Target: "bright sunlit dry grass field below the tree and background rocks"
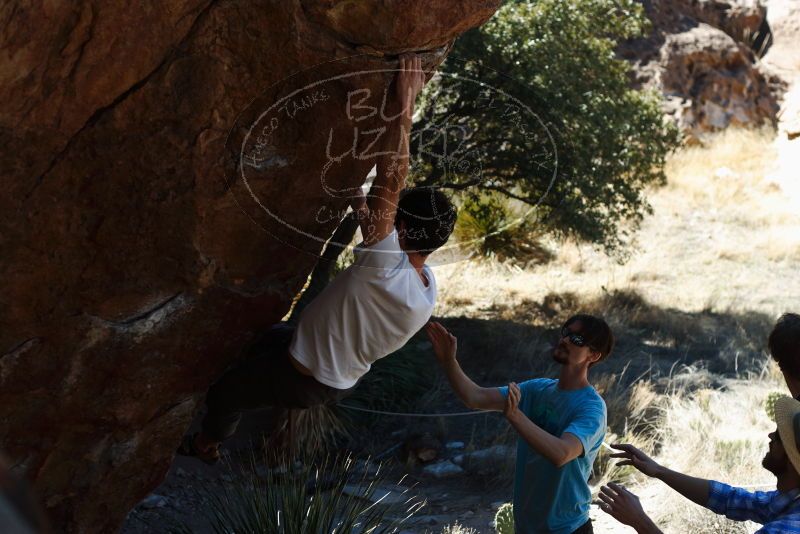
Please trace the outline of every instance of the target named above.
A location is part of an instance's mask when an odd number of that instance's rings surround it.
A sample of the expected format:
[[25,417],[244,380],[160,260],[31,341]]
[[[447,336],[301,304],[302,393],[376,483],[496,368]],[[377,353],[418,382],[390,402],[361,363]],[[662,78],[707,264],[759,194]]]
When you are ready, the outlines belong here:
[[800,198],[791,195],[800,193],[776,174],[775,146],[769,131],[728,130],[707,147],[676,153],[624,265],[574,243],[549,243],[556,259],[525,270],[478,260],[440,265],[436,313],[483,317],[548,293],[623,290],[686,312],[777,316],[800,301],[800,284],[791,283],[800,269]]

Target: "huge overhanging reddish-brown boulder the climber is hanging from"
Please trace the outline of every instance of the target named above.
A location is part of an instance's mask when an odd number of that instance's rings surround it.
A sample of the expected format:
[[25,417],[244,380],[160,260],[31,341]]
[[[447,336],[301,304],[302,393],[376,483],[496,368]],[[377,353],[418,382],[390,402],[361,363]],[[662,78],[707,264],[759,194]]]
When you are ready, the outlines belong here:
[[114,531],[285,314],[371,166],[348,94],[498,3],[0,7],[0,449],[57,530]]

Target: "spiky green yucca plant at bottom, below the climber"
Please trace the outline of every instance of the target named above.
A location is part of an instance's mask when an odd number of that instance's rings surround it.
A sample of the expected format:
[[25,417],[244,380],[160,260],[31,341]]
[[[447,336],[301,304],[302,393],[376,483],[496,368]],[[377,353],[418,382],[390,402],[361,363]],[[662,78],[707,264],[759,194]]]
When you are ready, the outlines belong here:
[[[269,454],[269,453],[268,453]],[[276,465],[274,458],[267,458]],[[326,455],[294,462],[284,469],[260,469],[251,456],[242,477],[222,488],[200,489],[208,499],[205,515],[215,534],[339,534],[397,532],[424,505],[408,495],[401,504],[383,503],[376,494],[386,476],[369,474],[351,456]],[[402,481],[402,480],[401,480]],[[405,490],[407,492],[408,490]],[[405,494],[404,492],[404,494]],[[405,496],[405,495],[404,495]],[[176,534],[191,530],[183,525]]]

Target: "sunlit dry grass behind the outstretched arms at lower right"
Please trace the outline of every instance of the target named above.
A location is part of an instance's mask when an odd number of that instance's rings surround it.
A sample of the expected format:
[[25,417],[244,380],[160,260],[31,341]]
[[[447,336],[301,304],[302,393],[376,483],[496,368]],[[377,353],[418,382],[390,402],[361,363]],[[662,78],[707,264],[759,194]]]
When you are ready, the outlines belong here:
[[[758,379],[726,380],[722,388],[702,386],[695,370],[684,370],[661,384],[665,394],[656,394],[649,381],[637,382],[627,402],[626,432],[607,436],[632,443],[663,465],[694,476],[719,480],[749,489],[769,490],[775,478],[761,467],[767,449],[767,434],[775,429],[766,412],[766,399],[772,392],[786,393],[774,364],[769,364]],[[609,410],[618,402],[612,388],[604,394]],[[630,423],[633,423],[632,425]],[[667,534],[753,532],[754,523],[737,523],[697,506],[665,484],[647,479],[631,468],[613,465],[608,451],[601,451],[595,464],[595,491],[610,480],[625,483],[639,495],[642,505]],[[599,472],[598,472],[599,471]],[[592,516],[598,531],[629,533],[598,509]]]

